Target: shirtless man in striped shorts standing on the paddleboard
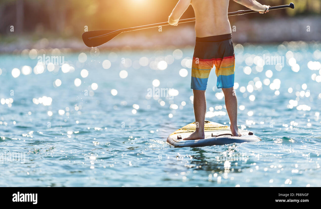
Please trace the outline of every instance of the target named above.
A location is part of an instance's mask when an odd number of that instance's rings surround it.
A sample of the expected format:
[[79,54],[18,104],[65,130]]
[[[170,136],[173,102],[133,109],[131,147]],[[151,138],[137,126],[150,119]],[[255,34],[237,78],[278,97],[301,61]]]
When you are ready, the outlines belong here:
[[[234,0],[252,10],[267,13],[270,6],[255,0]],[[192,64],[191,88],[194,94],[196,131],[184,140],[203,139],[206,113],[205,90],[211,69],[215,65],[217,88],[222,88],[226,110],[233,136],[241,136],[237,126],[238,102],[234,93],[235,55],[227,16],[229,0],[179,0],[169,16],[170,25],[177,25],[179,18],[192,5],[195,12],[196,44]]]

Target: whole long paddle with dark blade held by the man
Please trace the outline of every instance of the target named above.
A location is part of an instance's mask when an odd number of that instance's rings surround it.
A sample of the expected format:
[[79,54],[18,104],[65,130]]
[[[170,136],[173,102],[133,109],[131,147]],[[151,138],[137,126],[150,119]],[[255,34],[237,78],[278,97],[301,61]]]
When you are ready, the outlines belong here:
[[[273,7],[270,7],[269,10],[283,9],[283,8],[294,9],[294,4],[290,3],[289,5],[273,6]],[[258,11],[239,10],[236,12],[228,13],[228,16],[241,15],[241,14],[247,14],[247,13],[255,13],[255,12],[258,12]],[[193,22],[193,21],[195,21],[195,18],[183,19],[183,20],[178,21],[178,23]],[[156,24],[151,24],[151,25],[143,25],[143,26],[137,26],[137,27],[132,27],[132,28],[118,29],[118,30],[92,30],[92,31],[84,32],[82,34],[82,40],[86,46],[96,47],[96,46],[100,46],[104,43],[107,43],[108,41],[115,38],[117,35],[119,35],[122,32],[141,30],[141,29],[147,29],[147,28],[154,28],[154,27],[166,26],[166,25],[169,25],[168,22],[161,22],[161,23],[156,23]]]

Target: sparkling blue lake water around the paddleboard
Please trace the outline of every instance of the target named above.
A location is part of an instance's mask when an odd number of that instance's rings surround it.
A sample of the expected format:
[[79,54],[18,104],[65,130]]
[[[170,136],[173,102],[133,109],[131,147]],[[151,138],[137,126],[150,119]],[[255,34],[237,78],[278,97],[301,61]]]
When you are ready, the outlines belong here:
[[[0,186],[320,187],[320,46],[235,46],[239,129],[262,141],[196,148],[166,143],[194,121],[191,46],[1,54]],[[206,97],[228,125],[214,70]]]

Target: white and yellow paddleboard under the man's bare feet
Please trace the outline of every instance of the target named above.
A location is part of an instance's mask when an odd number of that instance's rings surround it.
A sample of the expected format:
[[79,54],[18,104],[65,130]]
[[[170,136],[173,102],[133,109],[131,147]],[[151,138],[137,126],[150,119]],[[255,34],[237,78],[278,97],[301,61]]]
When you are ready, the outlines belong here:
[[167,138],[167,142],[174,147],[197,147],[261,141],[253,132],[247,130],[239,130],[240,134],[242,134],[240,137],[232,136],[230,127],[211,121],[205,121],[204,139],[183,140],[183,138],[187,138],[191,135],[195,129],[195,122],[187,124],[170,134]]

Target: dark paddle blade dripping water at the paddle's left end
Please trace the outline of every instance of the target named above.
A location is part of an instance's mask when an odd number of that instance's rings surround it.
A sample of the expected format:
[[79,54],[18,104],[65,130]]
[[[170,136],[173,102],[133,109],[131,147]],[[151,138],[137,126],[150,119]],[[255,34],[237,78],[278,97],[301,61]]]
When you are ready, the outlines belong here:
[[88,47],[100,46],[119,35],[119,30],[92,30],[82,34],[82,40]]

